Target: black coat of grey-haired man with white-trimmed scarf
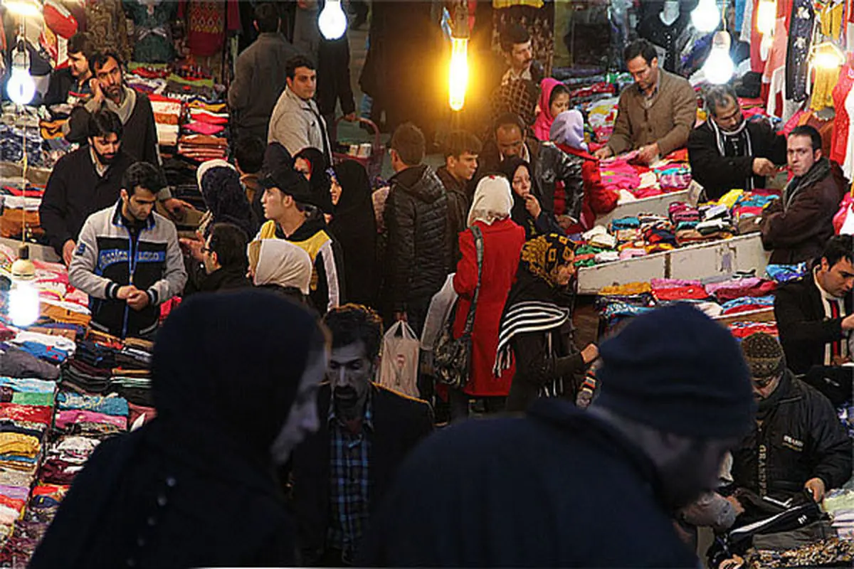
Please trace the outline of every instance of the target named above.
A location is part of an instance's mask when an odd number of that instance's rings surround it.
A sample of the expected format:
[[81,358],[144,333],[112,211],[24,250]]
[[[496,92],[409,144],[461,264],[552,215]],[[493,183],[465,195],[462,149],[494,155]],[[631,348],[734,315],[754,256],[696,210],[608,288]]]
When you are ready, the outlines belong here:
[[[710,119],[711,120],[711,119]],[[688,136],[688,161],[691,175],[705,189],[710,200],[718,200],[730,189],[746,189],[753,178],[753,188],[764,188],[765,177],[753,174],[753,160],[767,158],[777,165],[786,164],[786,136],[777,135],[764,120],[745,125],[750,136],[750,156],[722,156],[717,148],[717,135],[709,121],[699,125]]]

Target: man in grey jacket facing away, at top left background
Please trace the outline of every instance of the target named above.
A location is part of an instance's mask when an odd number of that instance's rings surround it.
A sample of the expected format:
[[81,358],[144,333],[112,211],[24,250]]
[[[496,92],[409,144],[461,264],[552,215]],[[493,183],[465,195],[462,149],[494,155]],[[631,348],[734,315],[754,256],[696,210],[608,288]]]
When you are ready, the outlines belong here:
[[281,19],[274,3],[255,6],[258,38],[237,56],[234,80],[228,89],[232,129],[237,136],[266,140],[272,109],[285,86],[285,62],[299,51],[279,31]]

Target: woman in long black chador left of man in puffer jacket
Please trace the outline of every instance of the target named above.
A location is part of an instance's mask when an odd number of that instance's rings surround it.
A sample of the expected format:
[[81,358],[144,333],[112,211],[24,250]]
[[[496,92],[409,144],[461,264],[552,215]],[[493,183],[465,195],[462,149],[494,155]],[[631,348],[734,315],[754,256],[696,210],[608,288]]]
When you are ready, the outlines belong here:
[[335,210],[329,227],[344,251],[348,300],[376,306],[377,220],[365,168],[354,160],[336,165],[331,197]]

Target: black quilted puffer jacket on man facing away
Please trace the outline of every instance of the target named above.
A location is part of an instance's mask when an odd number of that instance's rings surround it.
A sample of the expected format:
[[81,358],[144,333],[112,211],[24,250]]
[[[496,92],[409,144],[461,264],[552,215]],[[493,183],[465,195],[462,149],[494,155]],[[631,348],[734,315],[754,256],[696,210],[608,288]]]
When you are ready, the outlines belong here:
[[407,168],[389,183],[383,299],[391,311],[402,312],[410,302],[429,300],[447,277],[447,195],[427,165]]

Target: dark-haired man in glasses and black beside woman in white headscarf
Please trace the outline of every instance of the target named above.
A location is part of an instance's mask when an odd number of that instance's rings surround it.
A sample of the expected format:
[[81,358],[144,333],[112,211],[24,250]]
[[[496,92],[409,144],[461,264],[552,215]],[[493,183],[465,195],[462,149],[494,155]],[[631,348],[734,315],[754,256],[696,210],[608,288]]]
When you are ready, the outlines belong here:
[[251,286],[246,278],[246,231],[235,224],[219,222],[211,224],[207,233],[205,241],[198,241],[201,247],[194,247],[187,258],[184,297]]

